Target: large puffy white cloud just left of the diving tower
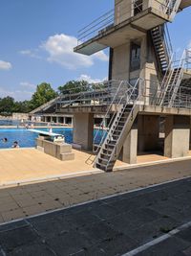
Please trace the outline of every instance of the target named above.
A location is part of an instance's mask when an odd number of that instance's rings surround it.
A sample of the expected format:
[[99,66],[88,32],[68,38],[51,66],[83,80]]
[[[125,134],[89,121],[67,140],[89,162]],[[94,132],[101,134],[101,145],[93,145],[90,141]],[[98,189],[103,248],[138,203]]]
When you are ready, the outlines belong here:
[[95,59],[106,61],[107,55],[101,51],[93,56],[84,56],[74,53],[77,39],[71,35],[53,35],[41,45],[48,54],[48,61],[55,62],[68,69],[90,67]]

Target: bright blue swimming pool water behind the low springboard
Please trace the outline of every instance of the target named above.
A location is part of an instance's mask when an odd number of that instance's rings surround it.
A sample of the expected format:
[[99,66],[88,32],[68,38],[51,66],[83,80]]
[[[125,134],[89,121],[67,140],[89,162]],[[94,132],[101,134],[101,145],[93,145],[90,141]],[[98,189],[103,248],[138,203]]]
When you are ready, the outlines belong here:
[[[38,128],[40,130],[48,131],[48,128]],[[73,128],[53,128],[54,133],[63,134],[66,143],[73,143]],[[96,130],[95,130],[96,132]],[[96,136],[96,143],[101,139],[102,132],[100,131]],[[35,147],[35,139],[38,134],[26,128],[0,128],[0,149],[9,149],[14,141],[18,141],[20,148]],[[8,142],[3,142],[3,138],[8,138]]]

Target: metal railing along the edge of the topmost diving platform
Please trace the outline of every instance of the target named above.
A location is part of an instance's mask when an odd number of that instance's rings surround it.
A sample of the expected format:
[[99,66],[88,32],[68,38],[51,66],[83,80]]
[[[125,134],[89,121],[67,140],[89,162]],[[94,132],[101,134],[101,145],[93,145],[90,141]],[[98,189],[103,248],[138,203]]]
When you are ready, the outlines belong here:
[[101,35],[103,32],[109,31],[114,26],[149,8],[157,10],[162,15],[167,14],[169,16],[173,11],[171,2],[174,2],[174,0],[142,0],[142,2],[138,0],[128,0],[126,1],[125,6],[124,2],[119,2],[115,6],[115,9],[106,12],[78,31],[77,45],[88,41],[96,35]]

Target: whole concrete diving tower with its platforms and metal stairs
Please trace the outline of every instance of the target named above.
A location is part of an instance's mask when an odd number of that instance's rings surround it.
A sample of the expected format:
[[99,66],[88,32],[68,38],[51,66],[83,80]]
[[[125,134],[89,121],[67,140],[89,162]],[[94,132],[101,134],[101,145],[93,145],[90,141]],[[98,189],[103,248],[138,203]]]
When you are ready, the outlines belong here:
[[[76,111],[75,104],[80,102],[78,113],[74,113],[74,139],[83,137],[89,149],[96,146],[97,168],[112,171],[117,158],[136,163],[138,151],[159,149],[159,133],[163,134],[160,148],[165,156],[187,155],[191,51],[185,50],[180,59],[175,59],[167,23],[189,6],[191,0],[116,0],[113,11],[79,32],[74,52],[92,55],[110,48],[108,86],[103,87],[104,96],[96,92],[90,96],[90,86],[89,94],[82,92],[71,104],[61,101],[60,111]],[[99,105],[105,107],[106,115],[113,113],[98,145],[93,126],[88,125],[93,124],[92,113],[87,110],[87,103],[92,105],[92,101],[93,109]],[[98,130],[101,128],[102,124]]]

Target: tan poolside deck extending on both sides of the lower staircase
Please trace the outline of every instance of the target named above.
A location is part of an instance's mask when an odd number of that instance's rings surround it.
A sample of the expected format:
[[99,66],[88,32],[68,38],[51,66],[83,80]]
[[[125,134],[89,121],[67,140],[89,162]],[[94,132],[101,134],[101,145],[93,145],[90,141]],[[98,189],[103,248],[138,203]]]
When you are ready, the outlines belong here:
[[[53,156],[32,148],[1,150],[0,188],[17,186],[18,184],[29,184],[36,181],[102,173],[102,171],[93,168],[92,160],[95,158],[94,155],[87,161],[91,155],[90,152],[73,151],[74,160],[62,162]],[[138,155],[137,165],[132,166],[117,161],[115,171],[138,167],[138,165],[150,165],[162,160],[168,159],[157,153],[142,153]]]

